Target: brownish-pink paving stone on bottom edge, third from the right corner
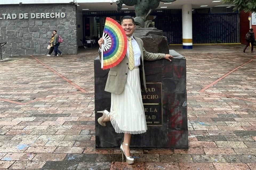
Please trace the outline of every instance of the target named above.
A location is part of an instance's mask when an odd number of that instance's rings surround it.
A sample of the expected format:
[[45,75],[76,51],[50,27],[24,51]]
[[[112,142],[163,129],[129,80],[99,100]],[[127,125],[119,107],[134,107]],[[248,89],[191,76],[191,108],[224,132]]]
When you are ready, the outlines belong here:
[[179,163],[181,170],[215,170],[212,163]]

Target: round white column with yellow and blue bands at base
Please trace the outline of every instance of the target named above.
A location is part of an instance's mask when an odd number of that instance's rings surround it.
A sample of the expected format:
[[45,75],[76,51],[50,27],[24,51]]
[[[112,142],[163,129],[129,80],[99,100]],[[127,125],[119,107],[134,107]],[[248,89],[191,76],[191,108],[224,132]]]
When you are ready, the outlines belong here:
[[182,44],[183,49],[192,49],[192,5],[182,5]]

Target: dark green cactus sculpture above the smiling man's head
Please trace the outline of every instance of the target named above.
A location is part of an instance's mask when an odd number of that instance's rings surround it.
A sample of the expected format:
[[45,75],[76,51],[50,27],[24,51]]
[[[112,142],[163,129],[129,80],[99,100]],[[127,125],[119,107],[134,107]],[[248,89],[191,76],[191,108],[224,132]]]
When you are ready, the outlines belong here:
[[151,21],[147,20],[151,10],[156,9],[160,2],[170,3],[174,1],[176,0],[119,0],[116,1],[116,4],[118,12],[122,9],[123,4],[134,6],[136,14],[136,18],[134,18],[135,24],[141,28],[151,28],[153,24]]

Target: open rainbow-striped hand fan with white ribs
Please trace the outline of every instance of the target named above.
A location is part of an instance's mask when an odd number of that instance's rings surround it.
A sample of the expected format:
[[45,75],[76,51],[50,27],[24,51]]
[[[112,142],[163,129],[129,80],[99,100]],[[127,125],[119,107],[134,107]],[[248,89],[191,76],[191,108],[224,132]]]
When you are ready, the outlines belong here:
[[127,52],[127,37],[121,25],[107,18],[103,31],[104,44],[101,50],[101,68],[110,69],[118,65]]

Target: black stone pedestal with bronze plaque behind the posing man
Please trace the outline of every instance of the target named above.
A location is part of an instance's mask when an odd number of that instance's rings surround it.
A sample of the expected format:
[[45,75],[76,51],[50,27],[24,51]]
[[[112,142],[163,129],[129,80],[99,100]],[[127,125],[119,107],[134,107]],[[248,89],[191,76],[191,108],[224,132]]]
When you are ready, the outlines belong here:
[[[172,61],[144,61],[147,93],[142,91],[147,132],[132,135],[133,148],[188,148],[186,59],[174,50]],[[104,91],[109,70],[102,70],[99,57],[94,60],[96,148],[116,148],[123,134],[115,133],[111,122],[103,127],[97,111],[110,111],[111,94]]]

